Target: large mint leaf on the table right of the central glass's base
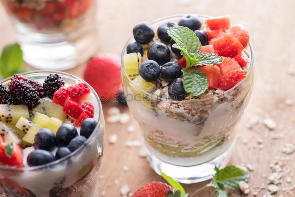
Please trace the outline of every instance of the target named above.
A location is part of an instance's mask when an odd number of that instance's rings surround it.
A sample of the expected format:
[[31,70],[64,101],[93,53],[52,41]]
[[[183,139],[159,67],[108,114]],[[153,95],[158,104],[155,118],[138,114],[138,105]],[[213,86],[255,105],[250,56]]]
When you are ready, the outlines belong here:
[[216,174],[213,176],[214,182],[222,184],[232,190],[235,190],[239,186],[241,180],[247,182],[250,177],[248,173],[235,166],[227,166],[221,170],[215,167],[215,170]]

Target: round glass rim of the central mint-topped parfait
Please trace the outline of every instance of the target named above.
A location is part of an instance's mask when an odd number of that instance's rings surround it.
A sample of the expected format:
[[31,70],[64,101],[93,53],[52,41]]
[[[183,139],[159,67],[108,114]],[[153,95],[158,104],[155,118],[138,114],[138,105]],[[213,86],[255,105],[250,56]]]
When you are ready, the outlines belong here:
[[[172,19],[172,18],[177,18],[177,17],[182,17],[186,14],[176,14],[176,15],[170,15],[170,16],[166,16],[166,17],[162,17],[162,18],[159,18],[159,19],[156,19],[156,20],[153,20],[152,22],[150,22],[150,25],[153,26],[153,24],[157,23],[157,22],[161,22],[163,20],[168,20],[168,19]],[[198,15],[199,17],[202,17],[202,18],[211,18],[211,16],[209,15],[204,15],[204,14],[196,14]],[[124,48],[123,48],[123,51],[121,53],[121,68],[122,68],[122,71],[124,72],[124,74],[127,76],[127,80],[129,83],[131,83],[134,87],[136,87],[137,89],[139,89],[141,92],[144,92],[146,95],[149,95],[151,97],[154,97],[155,99],[157,100],[161,100],[161,101],[168,101],[168,102],[177,102],[177,103],[181,103],[181,102],[203,102],[203,101],[206,101],[206,100],[210,100],[213,98],[212,97],[208,97],[208,98],[204,98],[204,99],[198,99],[198,100],[194,100],[194,101],[191,101],[191,100],[181,100],[181,101],[178,101],[178,100],[172,100],[172,99],[167,99],[167,98],[162,98],[162,97],[158,97],[154,94],[151,94],[151,93],[148,93],[148,92],[145,92],[144,90],[140,89],[137,85],[135,85],[132,80],[128,77],[126,71],[125,71],[125,68],[124,68],[124,64],[123,64],[123,56],[125,55],[125,51],[126,51],[126,48],[128,46],[128,44],[130,43],[130,41],[133,39],[133,35],[127,40],[127,43],[124,45]],[[237,89],[238,87],[240,87],[242,85],[242,83],[249,78],[250,76],[250,73],[252,72],[253,70],[253,64],[254,64],[254,51],[253,51],[253,48],[252,48],[252,45],[249,41],[248,43],[248,47],[250,48],[250,66],[249,66],[249,69],[248,69],[248,72],[246,74],[246,77],[245,79],[243,79],[242,81],[240,81],[239,83],[237,83],[234,87],[222,92],[221,94],[215,96],[215,97],[223,97],[224,95],[227,95],[229,92],[232,92],[234,91],[235,89]],[[123,79],[122,79],[123,80]]]

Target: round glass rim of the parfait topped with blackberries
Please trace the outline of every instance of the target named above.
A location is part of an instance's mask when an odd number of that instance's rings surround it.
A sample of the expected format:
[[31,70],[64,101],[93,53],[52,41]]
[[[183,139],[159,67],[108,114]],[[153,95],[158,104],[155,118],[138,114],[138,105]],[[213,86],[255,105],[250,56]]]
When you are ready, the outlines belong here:
[[[101,124],[101,121],[102,121],[102,105],[101,105],[101,101],[99,99],[99,96],[97,95],[97,93],[95,92],[95,90],[86,82],[84,81],[83,79],[75,76],[75,75],[72,75],[72,74],[69,74],[69,73],[66,73],[66,72],[62,72],[62,71],[53,71],[53,70],[39,70],[39,71],[28,71],[28,72],[24,72],[24,73],[20,73],[21,75],[28,75],[28,74],[35,74],[35,73],[39,73],[39,74],[51,74],[51,73],[57,73],[57,74],[63,74],[63,75],[67,75],[67,76],[70,76],[72,77],[73,79],[77,79],[77,80],[80,80],[82,83],[86,83],[88,86],[89,86],[89,89],[92,91],[92,93],[94,93],[94,96],[96,98],[96,101],[98,102],[99,104],[99,116],[98,116],[98,120],[97,120],[97,124],[96,124],[96,127],[94,128],[94,131],[96,131],[100,124]],[[10,77],[7,77],[6,79],[3,79],[1,80],[0,82],[6,82],[8,80],[10,80],[12,78],[12,76]],[[89,138],[84,142],[84,143],[89,143],[92,138],[94,137],[94,132],[91,133],[91,135],[89,136]],[[42,169],[44,167],[50,167],[50,166],[53,166],[53,165],[56,165],[58,163],[61,163],[61,162],[64,162],[65,160],[67,160],[68,158],[72,157],[73,155],[77,154],[78,152],[80,152],[80,150],[82,150],[84,148],[84,146],[80,146],[78,149],[76,149],[74,152],[71,152],[70,154],[66,155],[65,157],[62,157],[60,159],[57,159],[53,162],[50,162],[48,164],[43,164],[43,165],[38,165],[38,166],[27,166],[27,167],[7,167],[7,166],[4,166],[4,165],[0,165],[0,170],[3,169],[3,170],[10,170],[10,171],[18,171],[18,172],[22,172],[22,171],[33,171],[33,170],[38,170],[38,169]]]

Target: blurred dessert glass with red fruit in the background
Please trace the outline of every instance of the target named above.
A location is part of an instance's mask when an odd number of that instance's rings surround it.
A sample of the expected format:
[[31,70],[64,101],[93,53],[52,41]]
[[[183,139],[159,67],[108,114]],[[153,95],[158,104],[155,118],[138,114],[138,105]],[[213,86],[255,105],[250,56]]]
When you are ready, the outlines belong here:
[[12,16],[24,60],[65,70],[94,55],[96,0],[1,0]]

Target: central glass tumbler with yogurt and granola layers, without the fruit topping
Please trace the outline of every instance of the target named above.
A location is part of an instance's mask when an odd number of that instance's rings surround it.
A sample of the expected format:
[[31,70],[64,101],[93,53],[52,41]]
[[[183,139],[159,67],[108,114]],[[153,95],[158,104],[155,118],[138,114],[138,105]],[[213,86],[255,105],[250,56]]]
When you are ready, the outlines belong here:
[[[160,24],[178,23],[182,16],[169,16],[150,24],[156,32]],[[199,16],[203,21],[208,18]],[[123,56],[127,45],[134,41],[132,36],[122,52],[122,82],[128,107],[142,131],[148,161],[159,175],[163,172],[181,183],[210,179],[215,166],[222,168],[229,162],[236,142],[235,126],[250,99],[251,44],[245,48],[250,63],[244,80],[225,92],[212,91],[204,99],[176,101],[143,91],[127,76]]]

